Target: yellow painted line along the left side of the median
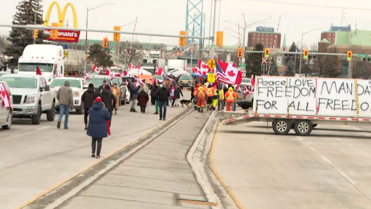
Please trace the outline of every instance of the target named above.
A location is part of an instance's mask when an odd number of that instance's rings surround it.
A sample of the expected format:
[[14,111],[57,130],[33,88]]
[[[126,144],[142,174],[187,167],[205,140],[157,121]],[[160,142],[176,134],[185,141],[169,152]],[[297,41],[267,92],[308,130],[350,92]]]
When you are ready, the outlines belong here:
[[[173,118],[175,118],[178,114],[175,114],[173,115],[168,121],[172,120]],[[46,195],[47,193],[51,192],[52,190],[58,188],[59,186],[61,186],[62,184],[68,182],[69,180],[73,179],[74,177],[78,176],[79,174],[85,172],[86,170],[90,169],[91,167],[95,166],[96,164],[100,163],[101,161],[107,159],[108,157],[111,157],[113,154],[115,154],[116,152],[124,149],[125,147],[129,146],[131,143],[133,143],[134,141],[137,141],[139,138],[142,138],[143,136],[147,135],[148,133],[150,133],[151,131],[155,130],[156,128],[164,125],[167,121],[164,121],[158,125],[156,125],[155,127],[151,128],[150,130],[147,130],[144,134],[142,134],[141,136],[139,136],[138,138],[135,138],[134,140],[132,141],[129,141],[128,143],[126,143],[124,146],[122,146],[121,148],[118,148],[117,150],[115,151],[112,151],[111,153],[109,153],[107,156],[105,157],[102,157],[101,159],[99,159],[98,161],[94,162],[93,164],[89,165],[89,166],[86,166],[85,168],[79,170],[78,172],[72,174],[72,176],[58,182],[57,184],[55,184],[54,186],[46,189],[45,191],[39,193],[38,195],[36,195],[35,197],[32,197],[31,199],[27,200],[25,203],[23,203],[22,205],[14,208],[14,209],[22,209],[24,207],[26,207],[27,205],[31,204],[32,202],[34,202],[35,200],[39,199],[40,197]]]

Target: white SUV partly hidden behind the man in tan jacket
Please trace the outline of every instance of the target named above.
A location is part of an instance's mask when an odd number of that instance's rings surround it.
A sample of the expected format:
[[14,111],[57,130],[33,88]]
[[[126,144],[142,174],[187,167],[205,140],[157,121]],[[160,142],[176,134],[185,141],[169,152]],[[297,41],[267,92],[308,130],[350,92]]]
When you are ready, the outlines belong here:
[[[88,89],[88,82],[81,76],[65,76],[54,78],[50,86],[55,87],[58,92],[59,88],[65,85],[65,81],[70,82],[70,88],[73,92],[73,108],[75,108],[77,114],[84,114],[84,104],[81,97]],[[56,104],[56,109],[59,111],[59,102]]]

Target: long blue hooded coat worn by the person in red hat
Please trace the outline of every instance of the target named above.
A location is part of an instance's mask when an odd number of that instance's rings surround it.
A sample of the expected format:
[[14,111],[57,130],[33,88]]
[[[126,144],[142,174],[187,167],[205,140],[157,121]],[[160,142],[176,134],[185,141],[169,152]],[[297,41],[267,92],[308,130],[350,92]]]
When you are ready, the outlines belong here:
[[101,102],[95,102],[93,107],[88,111],[89,126],[86,134],[91,137],[105,138],[108,137],[107,120],[111,120],[112,116],[103,108]]

